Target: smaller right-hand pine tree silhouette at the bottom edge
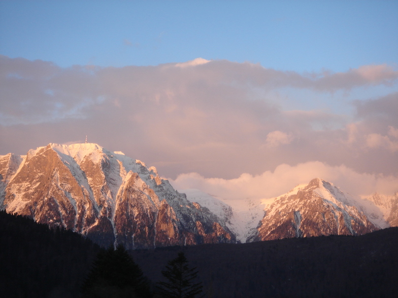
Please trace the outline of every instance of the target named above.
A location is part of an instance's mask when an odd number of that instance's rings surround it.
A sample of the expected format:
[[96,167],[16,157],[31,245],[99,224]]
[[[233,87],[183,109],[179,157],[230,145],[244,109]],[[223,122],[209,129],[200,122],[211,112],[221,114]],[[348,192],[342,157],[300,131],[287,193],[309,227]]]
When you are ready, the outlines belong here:
[[188,260],[183,252],[171,260],[162,271],[167,282],[158,282],[157,292],[165,298],[194,298],[202,293],[202,282],[195,282],[197,278],[196,268],[188,267]]

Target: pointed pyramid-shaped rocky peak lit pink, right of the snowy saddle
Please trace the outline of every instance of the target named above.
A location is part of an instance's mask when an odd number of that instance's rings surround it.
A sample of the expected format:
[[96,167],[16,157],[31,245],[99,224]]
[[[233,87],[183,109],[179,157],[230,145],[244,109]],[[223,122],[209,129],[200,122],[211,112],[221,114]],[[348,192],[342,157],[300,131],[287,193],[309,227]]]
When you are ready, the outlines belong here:
[[264,209],[248,241],[321,235],[361,235],[379,230],[361,207],[330,183],[315,178]]

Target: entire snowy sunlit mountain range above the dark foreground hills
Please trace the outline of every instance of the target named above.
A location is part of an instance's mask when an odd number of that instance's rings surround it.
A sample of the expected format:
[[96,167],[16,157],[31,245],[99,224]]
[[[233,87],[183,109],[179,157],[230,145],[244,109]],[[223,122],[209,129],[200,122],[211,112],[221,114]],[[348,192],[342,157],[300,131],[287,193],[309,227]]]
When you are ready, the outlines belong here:
[[[320,178],[272,200],[176,191],[156,168],[97,144],[0,156],[0,208],[128,249],[361,235],[398,226],[398,193],[354,199]],[[186,194],[185,194],[186,193]]]

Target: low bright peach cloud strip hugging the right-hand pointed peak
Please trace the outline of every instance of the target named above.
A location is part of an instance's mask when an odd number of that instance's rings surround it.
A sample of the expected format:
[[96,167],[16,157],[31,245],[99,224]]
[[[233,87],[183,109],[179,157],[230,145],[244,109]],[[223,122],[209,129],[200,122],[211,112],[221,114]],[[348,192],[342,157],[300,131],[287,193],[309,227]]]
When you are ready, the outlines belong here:
[[378,192],[393,195],[398,191],[398,176],[358,173],[344,165],[329,166],[322,162],[306,162],[290,166],[281,164],[274,171],[259,175],[242,174],[235,179],[205,178],[197,173],[180,174],[170,182],[177,190],[200,189],[226,200],[260,200],[287,193],[313,178],[334,183],[342,191],[355,197],[368,197]]

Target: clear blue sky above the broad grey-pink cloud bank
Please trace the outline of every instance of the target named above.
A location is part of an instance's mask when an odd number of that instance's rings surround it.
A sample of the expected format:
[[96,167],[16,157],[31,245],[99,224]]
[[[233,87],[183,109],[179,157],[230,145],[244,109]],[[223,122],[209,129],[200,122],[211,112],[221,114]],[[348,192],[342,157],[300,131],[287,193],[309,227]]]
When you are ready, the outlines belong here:
[[0,53],[59,66],[203,57],[278,70],[397,63],[396,1],[3,1]]

